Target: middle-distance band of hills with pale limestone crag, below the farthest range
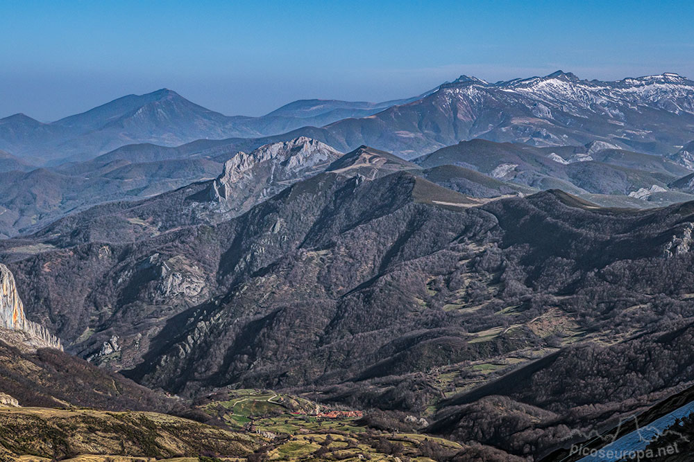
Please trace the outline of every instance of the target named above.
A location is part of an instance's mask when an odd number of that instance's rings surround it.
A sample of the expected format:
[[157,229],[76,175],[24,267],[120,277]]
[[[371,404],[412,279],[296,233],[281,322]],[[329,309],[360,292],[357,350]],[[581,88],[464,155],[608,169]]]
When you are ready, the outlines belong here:
[[[259,146],[262,141],[271,142]],[[33,233],[96,204],[152,197],[225,175],[244,178],[232,183],[218,180],[218,188],[226,182],[234,191],[223,193],[228,212],[232,208],[246,211],[260,197],[267,199],[291,182],[327,169],[341,155],[330,145],[305,136],[288,141],[273,136],[214,143],[194,142],[178,148],[129,145],[91,161],[0,172],[0,235]],[[347,156],[332,170],[349,167],[354,172],[364,170],[368,177],[407,170],[476,197],[559,188],[602,206],[631,208],[694,198],[691,170],[677,159],[627,151],[602,141],[537,148],[474,139],[412,161],[382,150],[373,152],[378,155],[372,161],[363,157],[359,161],[363,166],[340,167],[352,159]],[[379,168],[372,168],[375,166]],[[244,200],[250,202],[243,205]]]

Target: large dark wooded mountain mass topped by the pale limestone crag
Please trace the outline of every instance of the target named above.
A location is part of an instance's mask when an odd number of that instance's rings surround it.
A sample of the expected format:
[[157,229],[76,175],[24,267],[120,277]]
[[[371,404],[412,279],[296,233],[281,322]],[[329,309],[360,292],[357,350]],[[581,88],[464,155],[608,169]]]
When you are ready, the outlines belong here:
[[[430,181],[448,170],[498,190]],[[3,240],[0,256],[33,321],[140,384],[425,415],[427,432],[516,460],[694,381],[674,366],[691,344],[692,203],[610,209],[519,189],[298,139]]]

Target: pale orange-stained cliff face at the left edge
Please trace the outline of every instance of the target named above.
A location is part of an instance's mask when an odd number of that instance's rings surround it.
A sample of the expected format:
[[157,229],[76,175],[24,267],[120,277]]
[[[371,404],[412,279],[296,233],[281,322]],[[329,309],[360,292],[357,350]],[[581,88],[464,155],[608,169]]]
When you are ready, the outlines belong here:
[[29,321],[24,314],[24,304],[17,294],[15,277],[0,263],[0,327],[19,330],[28,335],[33,346],[58,348],[62,350],[60,339],[38,323]]

